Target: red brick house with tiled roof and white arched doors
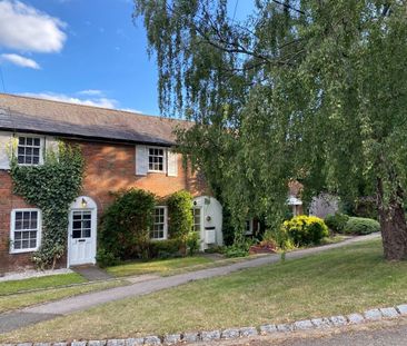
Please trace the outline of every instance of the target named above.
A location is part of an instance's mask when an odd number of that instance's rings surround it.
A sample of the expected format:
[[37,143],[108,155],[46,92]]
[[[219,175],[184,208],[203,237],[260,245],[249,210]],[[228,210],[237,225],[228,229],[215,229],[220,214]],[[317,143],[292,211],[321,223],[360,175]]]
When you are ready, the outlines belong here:
[[[166,197],[186,189],[193,199],[193,229],[204,250],[222,245],[222,211],[205,181],[173,152],[173,130],[190,122],[0,93],[0,273],[31,266],[41,245],[41,210],[12,192],[8,145],[21,165],[41,165],[61,140],[79,145],[86,160],[81,196],[72,202],[61,266],[95,264],[98,221],[111,192],[131,187]],[[75,220],[75,221],[73,221]],[[156,208],[151,237],[167,238],[166,206]]]

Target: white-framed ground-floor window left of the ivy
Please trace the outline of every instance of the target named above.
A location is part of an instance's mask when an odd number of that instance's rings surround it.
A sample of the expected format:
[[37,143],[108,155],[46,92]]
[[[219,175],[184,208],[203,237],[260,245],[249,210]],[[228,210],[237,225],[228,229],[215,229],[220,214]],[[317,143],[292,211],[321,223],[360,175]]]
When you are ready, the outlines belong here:
[[40,211],[38,209],[16,209],[11,212],[10,253],[34,251],[41,236]]

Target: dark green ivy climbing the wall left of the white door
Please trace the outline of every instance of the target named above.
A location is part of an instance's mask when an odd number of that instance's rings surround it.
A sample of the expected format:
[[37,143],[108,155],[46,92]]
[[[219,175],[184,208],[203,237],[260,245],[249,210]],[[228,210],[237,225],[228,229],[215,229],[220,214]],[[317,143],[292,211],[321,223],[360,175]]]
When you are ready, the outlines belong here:
[[32,260],[40,269],[53,268],[67,248],[69,206],[82,187],[80,148],[60,142],[58,151],[46,152],[40,166],[19,166],[11,155],[10,168],[14,194],[42,212],[41,246]]

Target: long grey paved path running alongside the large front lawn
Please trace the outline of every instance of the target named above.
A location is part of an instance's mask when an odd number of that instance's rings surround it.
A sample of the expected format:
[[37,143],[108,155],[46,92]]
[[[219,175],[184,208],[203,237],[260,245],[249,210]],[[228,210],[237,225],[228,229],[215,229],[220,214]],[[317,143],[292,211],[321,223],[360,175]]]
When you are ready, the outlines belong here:
[[[343,243],[337,243],[332,245],[297,250],[288,253],[286,255],[286,259],[301,258],[308,255],[319,254],[329,249],[339,248],[349,244],[374,239],[378,237],[379,235],[375,234],[369,236],[351,238]],[[39,306],[28,307],[19,312],[0,315],[0,333],[7,333],[32,324],[33,323],[32,316],[36,316],[34,323],[37,323],[41,320],[40,318],[41,314],[43,315],[43,320],[46,320],[57,317],[59,315],[68,315],[76,312],[85,310],[103,303],[123,299],[128,297],[147,295],[157,290],[176,287],[189,281],[222,276],[241,269],[254,268],[277,263],[279,260],[280,255],[274,254],[269,256],[258,257],[255,259],[248,259],[241,263],[227,265],[224,267],[202,269],[169,277],[160,277],[147,281],[135,283],[132,285],[123,287],[110,288],[102,291],[89,293],[80,296],[75,296],[71,298],[66,298],[62,300],[47,303]],[[12,320],[12,323],[10,323],[10,320]]]

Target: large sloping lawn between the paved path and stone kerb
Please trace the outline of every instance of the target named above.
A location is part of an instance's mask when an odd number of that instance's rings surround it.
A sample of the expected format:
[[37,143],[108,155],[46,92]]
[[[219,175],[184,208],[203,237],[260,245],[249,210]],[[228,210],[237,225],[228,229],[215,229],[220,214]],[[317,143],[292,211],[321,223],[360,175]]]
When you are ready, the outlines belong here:
[[406,303],[407,263],[378,240],[109,303],[0,336],[0,342],[129,337],[364,312]]

